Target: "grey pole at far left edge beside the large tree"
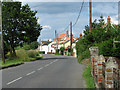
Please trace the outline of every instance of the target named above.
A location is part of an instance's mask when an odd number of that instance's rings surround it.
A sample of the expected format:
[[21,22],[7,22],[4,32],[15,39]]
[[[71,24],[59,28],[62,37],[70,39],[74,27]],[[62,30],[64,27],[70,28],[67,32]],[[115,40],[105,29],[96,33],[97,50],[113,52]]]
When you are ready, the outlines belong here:
[[3,44],[3,31],[2,31],[2,2],[0,1],[0,32],[1,32],[1,55],[2,61],[5,64],[5,57],[4,57],[4,44]]

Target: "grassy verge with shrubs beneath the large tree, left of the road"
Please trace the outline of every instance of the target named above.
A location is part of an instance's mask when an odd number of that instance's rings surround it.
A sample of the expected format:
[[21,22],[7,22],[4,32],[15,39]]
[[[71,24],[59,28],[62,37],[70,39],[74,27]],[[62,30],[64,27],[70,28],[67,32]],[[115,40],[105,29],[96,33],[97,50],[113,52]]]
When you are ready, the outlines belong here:
[[5,64],[3,64],[2,61],[0,62],[0,64],[2,64],[1,65],[2,68],[17,66],[24,64],[24,62],[36,61],[43,58],[43,56],[35,50],[28,51],[24,49],[16,50],[16,55],[17,57],[11,57],[10,54],[8,53],[6,55],[7,59],[5,60]]

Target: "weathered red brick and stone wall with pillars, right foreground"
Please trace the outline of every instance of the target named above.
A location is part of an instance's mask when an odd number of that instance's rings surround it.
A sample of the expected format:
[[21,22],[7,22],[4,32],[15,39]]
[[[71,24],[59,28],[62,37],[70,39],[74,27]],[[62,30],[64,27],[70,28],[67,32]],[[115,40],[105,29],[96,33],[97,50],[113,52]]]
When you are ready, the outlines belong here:
[[90,47],[91,75],[97,88],[120,88],[120,60],[115,57],[99,55],[98,47]]

